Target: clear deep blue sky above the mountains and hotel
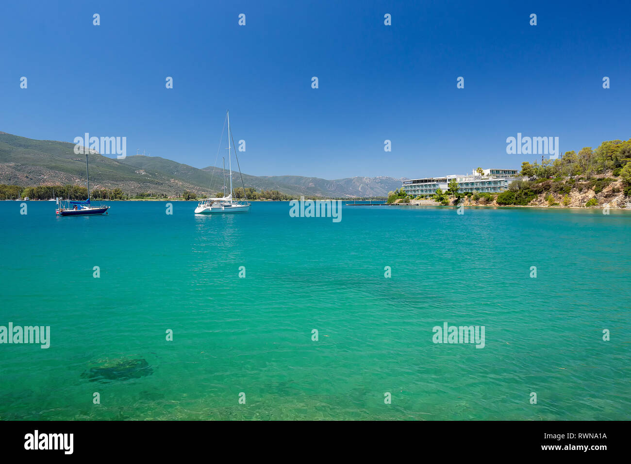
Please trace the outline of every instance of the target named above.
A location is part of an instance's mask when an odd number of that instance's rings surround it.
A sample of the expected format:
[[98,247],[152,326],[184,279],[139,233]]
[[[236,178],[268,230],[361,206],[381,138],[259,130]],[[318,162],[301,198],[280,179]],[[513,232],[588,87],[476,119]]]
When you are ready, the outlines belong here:
[[537,158],[507,155],[517,133],[558,136],[562,152],[631,137],[630,13],[622,1],[5,3],[0,131],[126,136],[127,155],[206,167],[230,109],[248,174],[517,168]]

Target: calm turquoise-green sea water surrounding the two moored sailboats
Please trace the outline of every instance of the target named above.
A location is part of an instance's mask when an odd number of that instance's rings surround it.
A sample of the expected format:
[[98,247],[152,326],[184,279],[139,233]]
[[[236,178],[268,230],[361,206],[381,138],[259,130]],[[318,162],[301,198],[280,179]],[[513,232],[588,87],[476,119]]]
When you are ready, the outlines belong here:
[[0,419],[631,419],[628,212],[109,204],[0,202],[0,325],[51,333],[0,345]]

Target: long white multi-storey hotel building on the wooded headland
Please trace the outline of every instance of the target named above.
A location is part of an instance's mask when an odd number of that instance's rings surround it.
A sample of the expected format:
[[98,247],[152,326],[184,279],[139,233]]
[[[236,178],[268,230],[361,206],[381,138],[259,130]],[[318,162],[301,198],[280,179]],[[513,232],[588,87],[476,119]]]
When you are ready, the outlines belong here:
[[483,169],[483,174],[475,172],[465,175],[445,175],[403,181],[403,190],[410,196],[433,195],[436,189],[447,190],[449,181],[456,179],[458,191],[499,193],[508,189],[510,182],[521,179],[517,169]]

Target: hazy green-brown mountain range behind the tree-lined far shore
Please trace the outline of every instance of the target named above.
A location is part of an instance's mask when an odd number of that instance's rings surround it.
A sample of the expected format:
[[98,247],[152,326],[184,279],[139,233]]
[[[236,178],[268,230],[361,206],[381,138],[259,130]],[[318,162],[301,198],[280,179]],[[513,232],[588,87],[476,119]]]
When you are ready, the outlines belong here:
[[[74,143],[34,140],[0,132],[0,184],[24,187],[38,185],[85,184],[85,156],[74,153]],[[221,191],[221,168],[198,169],[166,158],[133,155],[123,160],[90,155],[90,187],[124,193],[178,195],[184,190],[197,194]],[[300,175],[257,176],[243,174],[245,187],[257,191],[278,190],[290,195],[327,198],[387,196],[401,187],[394,177],[347,177],[319,179]],[[233,187],[241,186],[239,172],[233,172]]]

